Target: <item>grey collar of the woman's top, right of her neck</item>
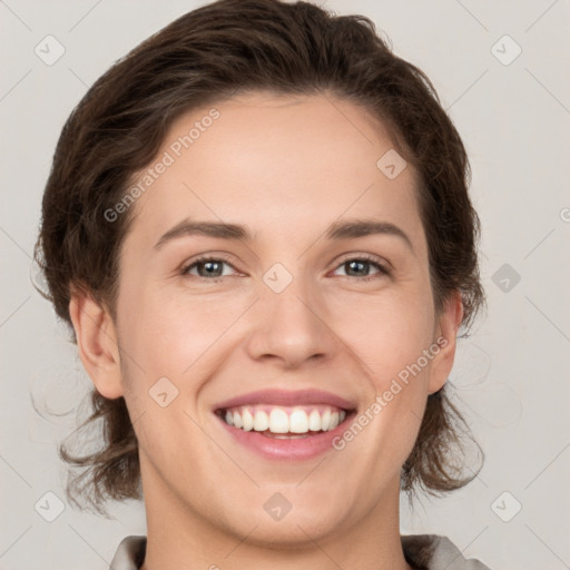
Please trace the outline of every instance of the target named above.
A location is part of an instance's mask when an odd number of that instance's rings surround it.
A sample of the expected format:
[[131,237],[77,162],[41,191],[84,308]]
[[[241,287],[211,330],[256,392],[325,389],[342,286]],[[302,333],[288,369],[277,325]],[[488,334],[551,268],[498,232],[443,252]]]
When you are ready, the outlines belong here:
[[402,549],[409,564],[417,570],[491,570],[475,559],[466,559],[448,537],[402,534]]

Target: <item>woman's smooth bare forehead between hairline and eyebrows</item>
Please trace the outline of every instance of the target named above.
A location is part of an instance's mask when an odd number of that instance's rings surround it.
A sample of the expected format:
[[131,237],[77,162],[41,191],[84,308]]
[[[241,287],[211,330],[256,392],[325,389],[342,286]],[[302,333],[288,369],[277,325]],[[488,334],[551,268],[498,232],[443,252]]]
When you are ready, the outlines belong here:
[[154,175],[138,173],[131,233],[151,240],[191,217],[309,238],[340,218],[376,216],[421,240],[413,168],[389,178],[379,167],[394,151],[380,121],[331,96],[248,94],[194,109],[171,125]]

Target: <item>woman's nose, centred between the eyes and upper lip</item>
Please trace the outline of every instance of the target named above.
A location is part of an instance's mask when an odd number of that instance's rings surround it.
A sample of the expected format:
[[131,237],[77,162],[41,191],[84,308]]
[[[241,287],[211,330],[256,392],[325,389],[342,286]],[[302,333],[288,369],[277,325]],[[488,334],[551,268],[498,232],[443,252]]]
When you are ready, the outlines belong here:
[[254,308],[247,343],[254,360],[275,360],[284,368],[293,368],[338,350],[325,304],[301,279],[293,279],[281,293],[267,287]]

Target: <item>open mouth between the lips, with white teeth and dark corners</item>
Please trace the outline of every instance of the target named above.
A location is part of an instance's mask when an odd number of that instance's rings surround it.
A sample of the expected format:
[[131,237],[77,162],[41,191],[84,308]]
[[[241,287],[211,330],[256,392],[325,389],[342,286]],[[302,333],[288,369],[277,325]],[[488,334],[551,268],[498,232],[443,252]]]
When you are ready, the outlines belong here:
[[239,405],[219,409],[216,414],[227,424],[245,432],[274,439],[302,439],[326,433],[354,411],[327,404],[306,406]]

